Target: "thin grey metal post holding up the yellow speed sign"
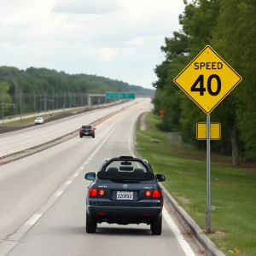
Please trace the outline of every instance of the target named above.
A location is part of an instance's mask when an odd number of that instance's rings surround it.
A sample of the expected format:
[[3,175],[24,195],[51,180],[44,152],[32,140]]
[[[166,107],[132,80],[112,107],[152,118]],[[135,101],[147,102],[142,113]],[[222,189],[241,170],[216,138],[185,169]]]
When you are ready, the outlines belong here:
[[207,114],[207,233],[211,233],[211,122],[210,114]]

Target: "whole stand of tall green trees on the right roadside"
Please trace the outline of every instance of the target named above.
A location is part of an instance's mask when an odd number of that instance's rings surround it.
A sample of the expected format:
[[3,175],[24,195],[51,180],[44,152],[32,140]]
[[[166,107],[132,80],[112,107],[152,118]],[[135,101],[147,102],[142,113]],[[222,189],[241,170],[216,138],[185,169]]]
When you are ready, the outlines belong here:
[[[173,79],[210,44],[242,77],[241,83],[211,113],[211,122],[220,122],[222,138],[212,141],[212,151],[232,155],[233,165],[241,159],[256,160],[256,1],[184,1],[179,15],[181,30],[165,38],[161,46],[165,60],[154,72],[157,80],[154,112],[165,111],[163,131],[180,131],[183,142],[205,149],[205,141],[195,137],[196,123],[206,122],[206,114],[181,91]],[[188,78],[189,79],[189,78]]]

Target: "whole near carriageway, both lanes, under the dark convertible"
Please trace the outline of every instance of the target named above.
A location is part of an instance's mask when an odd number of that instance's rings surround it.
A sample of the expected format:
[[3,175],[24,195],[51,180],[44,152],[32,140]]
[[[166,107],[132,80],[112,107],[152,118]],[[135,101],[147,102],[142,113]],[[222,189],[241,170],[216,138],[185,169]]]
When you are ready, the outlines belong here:
[[74,137],[0,166],[0,256],[200,255],[193,253],[195,245],[189,246],[166,208],[161,236],[152,236],[146,224],[99,224],[96,234],[85,232],[90,182],[84,175],[97,172],[106,157],[132,154],[132,127],[151,108],[149,102],[97,125],[94,139]]

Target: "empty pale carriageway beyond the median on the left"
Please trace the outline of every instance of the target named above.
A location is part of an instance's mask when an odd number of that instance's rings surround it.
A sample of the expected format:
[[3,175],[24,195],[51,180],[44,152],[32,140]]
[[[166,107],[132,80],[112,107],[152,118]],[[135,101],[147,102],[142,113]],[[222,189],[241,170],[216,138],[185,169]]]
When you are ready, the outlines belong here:
[[138,98],[131,102],[125,102],[109,108],[92,110],[88,113],[82,113],[71,118],[56,120],[44,125],[35,125],[20,131],[3,133],[0,135],[0,157],[26,148],[35,147],[41,143],[46,143],[57,137],[64,136],[68,132],[79,131],[81,125],[89,124],[96,121],[96,119],[101,119],[109,113],[131,106],[131,104],[135,102],[143,101],[145,101],[145,98]]

